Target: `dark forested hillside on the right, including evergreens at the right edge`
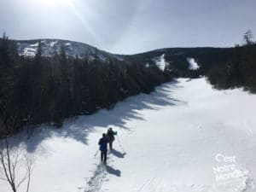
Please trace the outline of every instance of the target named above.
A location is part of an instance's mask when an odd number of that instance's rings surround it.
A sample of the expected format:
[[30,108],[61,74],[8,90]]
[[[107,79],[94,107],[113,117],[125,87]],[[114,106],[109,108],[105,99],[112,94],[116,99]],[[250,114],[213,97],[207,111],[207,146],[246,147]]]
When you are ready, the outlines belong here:
[[[233,48],[167,48],[150,52],[126,55],[125,59],[152,63],[157,55],[165,55],[170,63],[167,71],[175,77],[198,78],[207,77],[215,89],[232,89],[241,87],[256,92],[256,43],[253,34],[248,30],[244,36],[244,44],[236,44]],[[200,68],[188,70],[187,58],[195,58]]]

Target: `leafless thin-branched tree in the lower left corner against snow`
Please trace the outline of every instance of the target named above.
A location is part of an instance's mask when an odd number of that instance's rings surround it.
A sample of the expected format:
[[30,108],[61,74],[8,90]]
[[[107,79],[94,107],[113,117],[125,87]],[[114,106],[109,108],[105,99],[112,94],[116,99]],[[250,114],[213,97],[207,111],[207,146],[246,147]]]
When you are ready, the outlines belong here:
[[[3,108],[6,109],[6,108]],[[28,154],[20,143],[19,137],[12,136],[18,115],[2,111],[0,120],[3,137],[0,139],[0,179],[9,183],[13,192],[17,192],[22,184],[26,183],[25,191],[29,191],[32,167],[34,159],[32,154]],[[20,144],[14,145],[15,141]]]

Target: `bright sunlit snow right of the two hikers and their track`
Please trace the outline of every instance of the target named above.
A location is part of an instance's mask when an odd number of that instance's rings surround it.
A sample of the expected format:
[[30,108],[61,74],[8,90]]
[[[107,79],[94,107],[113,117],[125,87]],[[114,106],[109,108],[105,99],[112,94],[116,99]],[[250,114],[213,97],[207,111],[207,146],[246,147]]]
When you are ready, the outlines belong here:
[[[109,177],[101,191],[256,191],[251,189],[256,173],[256,96],[241,90],[212,90],[205,79],[179,79],[151,96],[159,92],[175,106],[150,103],[154,110],[136,111],[143,120],[127,123],[133,132],[122,136],[125,158],[113,155],[122,176]],[[218,154],[236,160],[223,162]],[[229,166],[218,176],[245,172],[217,182],[216,166]]]

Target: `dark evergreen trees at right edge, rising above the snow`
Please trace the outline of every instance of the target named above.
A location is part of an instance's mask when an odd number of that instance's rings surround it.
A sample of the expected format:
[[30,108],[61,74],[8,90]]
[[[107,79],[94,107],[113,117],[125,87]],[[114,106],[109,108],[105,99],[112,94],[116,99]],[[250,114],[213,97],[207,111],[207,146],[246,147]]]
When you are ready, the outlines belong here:
[[227,57],[207,69],[206,76],[213,87],[242,87],[256,93],[256,43],[252,40],[251,30],[243,35],[243,39],[244,44],[236,44]]

